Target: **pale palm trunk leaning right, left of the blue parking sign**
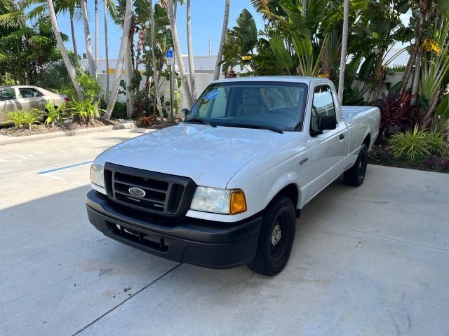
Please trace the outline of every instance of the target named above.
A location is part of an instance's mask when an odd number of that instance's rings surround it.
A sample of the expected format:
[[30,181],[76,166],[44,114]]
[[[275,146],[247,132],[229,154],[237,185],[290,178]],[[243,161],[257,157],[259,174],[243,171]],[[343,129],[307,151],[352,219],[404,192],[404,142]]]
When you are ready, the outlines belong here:
[[126,0],[125,18],[123,18],[123,32],[121,34],[119,57],[116,64],[116,73],[114,76],[114,82],[112,83],[112,91],[109,97],[109,102],[107,103],[106,113],[103,115],[103,118],[106,120],[111,118],[112,110],[114,109],[114,105],[117,100],[117,94],[119,93],[121,71],[123,70],[123,60],[125,58],[126,48],[128,48],[128,35],[129,29],[131,27],[131,3],[132,0]]

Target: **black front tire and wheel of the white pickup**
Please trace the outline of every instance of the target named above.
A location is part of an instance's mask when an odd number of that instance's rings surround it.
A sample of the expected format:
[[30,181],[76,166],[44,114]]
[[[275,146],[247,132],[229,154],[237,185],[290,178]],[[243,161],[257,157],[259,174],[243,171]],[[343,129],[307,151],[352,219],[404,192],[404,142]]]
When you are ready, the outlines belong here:
[[255,258],[248,264],[253,272],[273,276],[286,266],[295,241],[295,207],[287,197],[275,198],[262,218]]

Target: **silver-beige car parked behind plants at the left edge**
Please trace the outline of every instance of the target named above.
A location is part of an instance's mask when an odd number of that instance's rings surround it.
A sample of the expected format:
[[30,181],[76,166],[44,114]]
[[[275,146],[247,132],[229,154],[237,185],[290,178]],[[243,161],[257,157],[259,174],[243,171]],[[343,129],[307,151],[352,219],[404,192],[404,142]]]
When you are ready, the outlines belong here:
[[54,93],[33,85],[0,86],[0,124],[8,121],[6,113],[31,109],[45,111],[45,104],[54,101],[61,106],[66,100],[64,94]]

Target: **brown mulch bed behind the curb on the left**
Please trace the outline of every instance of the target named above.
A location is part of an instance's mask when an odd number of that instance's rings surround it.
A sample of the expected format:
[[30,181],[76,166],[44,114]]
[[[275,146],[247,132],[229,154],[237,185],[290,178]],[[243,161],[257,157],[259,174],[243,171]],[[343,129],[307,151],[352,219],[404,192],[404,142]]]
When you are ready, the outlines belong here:
[[61,131],[72,131],[72,130],[81,130],[85,128],[95,128],[102,126],[110,126],[121,124],[118,120],[93,120],[93,125],[89,123],[88,125],[79,123],[64,123],[57,124],[55,126],[51,125],[34,125],[32,130],[28,130],[27,127],[8,127],[0,129],[0,134],[7,135],[9,137],[25,137],[27,135],[35,135],[35,134],[45,134],[45,133],[53,133],[53,132],[61,132]]

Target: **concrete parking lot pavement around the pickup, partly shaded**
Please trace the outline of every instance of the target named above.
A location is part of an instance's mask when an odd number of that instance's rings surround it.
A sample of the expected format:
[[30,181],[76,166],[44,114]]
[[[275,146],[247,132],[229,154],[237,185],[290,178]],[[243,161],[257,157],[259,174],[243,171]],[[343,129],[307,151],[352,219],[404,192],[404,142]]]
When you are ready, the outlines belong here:
[[0,146],[0,335],[448,335],[449,174],[336,181],[269,278],[156,258],[88,223],[90,162],[137,135]]

